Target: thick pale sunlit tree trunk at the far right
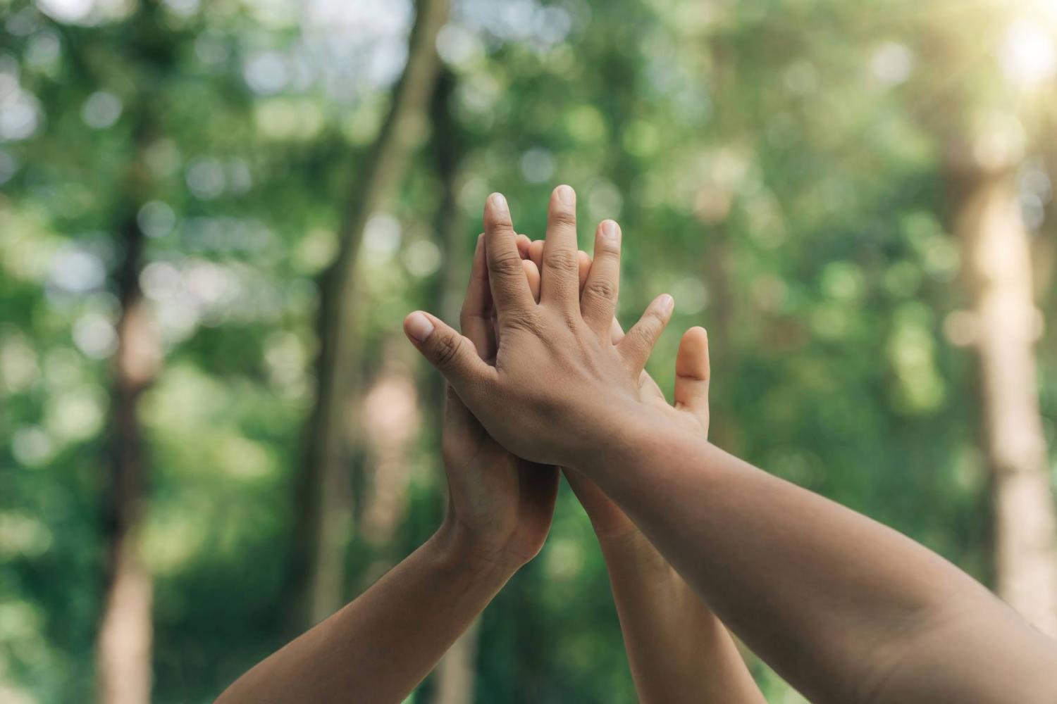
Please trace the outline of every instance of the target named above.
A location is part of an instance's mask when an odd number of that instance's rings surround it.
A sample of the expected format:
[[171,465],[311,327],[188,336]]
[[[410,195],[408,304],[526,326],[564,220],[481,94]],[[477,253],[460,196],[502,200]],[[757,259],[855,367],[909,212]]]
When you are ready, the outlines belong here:
[[1012,168],[963,167],[956,179],[954,230],[978,323],[996,587],[1032,624],[1057,635],[1057,521],[1039,412],[1030,242]]

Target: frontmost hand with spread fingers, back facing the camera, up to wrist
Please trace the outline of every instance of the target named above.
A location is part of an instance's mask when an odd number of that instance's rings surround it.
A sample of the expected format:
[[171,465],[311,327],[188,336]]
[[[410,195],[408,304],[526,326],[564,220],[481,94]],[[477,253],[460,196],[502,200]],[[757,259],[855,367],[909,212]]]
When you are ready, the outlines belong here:
[[578,296],[575,199],[568,186],[551,195],[537,304],[506,201],[488,197],[484,250],[499,332],[494,366],[439,319],[416,311],[404,321],[412,343],[493,438],[520,457],[564,467],[612,442],[613,429],[645,405],[638,378],[673,305],[670,296],[659,297],[612,343],[620,230],[612,221],[599,225],[595,261]]

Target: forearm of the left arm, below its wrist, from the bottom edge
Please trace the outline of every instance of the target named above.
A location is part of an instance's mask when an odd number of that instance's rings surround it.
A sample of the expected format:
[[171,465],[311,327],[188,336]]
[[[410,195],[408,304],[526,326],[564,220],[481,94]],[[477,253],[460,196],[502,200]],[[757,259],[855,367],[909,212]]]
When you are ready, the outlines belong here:
[[513,571],[470,557],[457,531],[444,528],[351,604],[242,676],[218,701],[401,702]]

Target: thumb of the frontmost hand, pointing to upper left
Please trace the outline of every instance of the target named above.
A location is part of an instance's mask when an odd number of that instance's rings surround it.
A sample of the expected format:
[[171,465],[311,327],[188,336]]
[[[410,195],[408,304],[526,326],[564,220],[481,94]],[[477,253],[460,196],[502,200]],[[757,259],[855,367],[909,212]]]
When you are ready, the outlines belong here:
[[469,338],[459,335],[444,321],[415,310],[404,319],[404,332],[463,401],[478,398],[484,387],[492,386],[495,367],[478,357]]

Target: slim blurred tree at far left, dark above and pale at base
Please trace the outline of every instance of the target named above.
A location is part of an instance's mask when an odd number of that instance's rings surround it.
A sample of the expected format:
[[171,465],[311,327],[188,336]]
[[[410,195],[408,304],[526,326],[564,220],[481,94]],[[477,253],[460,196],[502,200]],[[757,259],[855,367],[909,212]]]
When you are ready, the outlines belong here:
[[146,236],[137,215],[151,195],[146,154],[161,137],[159,87],[172,71],[179,41],[165,27],[161,12],[155,2],[144,2],[122,27],[144,88],[128,109],[132,151],[112,217],[122,258],[113,277],[120,313],[111,364],[111,471],[103,518],[106,587],[96,646],[98,697],[104,704],[143,704],[151,699],[153,585],[138,546],[149,462],[137,415],[143,393],[157,376],[161,349],[140,288]]

